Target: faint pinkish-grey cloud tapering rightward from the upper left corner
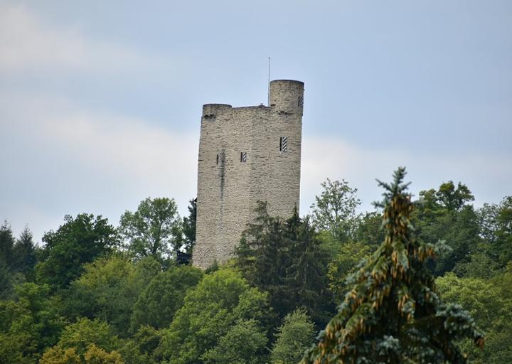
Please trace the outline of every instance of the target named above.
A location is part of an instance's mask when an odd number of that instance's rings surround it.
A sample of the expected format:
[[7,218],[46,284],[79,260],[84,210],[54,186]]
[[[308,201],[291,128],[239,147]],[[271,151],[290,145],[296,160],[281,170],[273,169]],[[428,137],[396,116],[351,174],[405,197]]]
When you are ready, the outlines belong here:
[[51,69],[124,73],[166,70],[172,62],[116,43],[89,39],[78,28],[56,28],[22,5],[0,4],[0,72]]

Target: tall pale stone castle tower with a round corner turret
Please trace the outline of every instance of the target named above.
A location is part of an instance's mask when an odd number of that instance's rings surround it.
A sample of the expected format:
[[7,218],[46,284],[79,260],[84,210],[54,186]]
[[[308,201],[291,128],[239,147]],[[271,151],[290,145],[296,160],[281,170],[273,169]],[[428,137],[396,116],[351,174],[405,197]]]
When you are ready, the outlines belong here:
[[270,106],[203,105],[193,264],[233,256],[257,200],[284,218],[299,208],[304,82],[270,82]]

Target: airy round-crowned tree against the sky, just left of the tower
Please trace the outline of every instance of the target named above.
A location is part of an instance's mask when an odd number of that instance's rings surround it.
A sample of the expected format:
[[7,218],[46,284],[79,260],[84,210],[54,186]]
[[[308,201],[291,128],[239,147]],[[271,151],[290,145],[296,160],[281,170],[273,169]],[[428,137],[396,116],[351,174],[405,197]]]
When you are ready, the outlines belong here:
[[173,198],[146,198],[134,213],[126,211],[119,232],[136,259],[176,257],[182,244],[181,219]]

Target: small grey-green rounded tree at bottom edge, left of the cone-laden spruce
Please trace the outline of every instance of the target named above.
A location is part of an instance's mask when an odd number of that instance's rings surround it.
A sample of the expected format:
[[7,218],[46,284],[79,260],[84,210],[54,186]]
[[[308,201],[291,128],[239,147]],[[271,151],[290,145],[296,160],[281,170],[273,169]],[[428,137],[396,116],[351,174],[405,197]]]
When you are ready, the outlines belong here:
[[299,363],[306,348],[314,343],[315,328],[306,311],[298,309],[284,317],[272,346],[272,364]]

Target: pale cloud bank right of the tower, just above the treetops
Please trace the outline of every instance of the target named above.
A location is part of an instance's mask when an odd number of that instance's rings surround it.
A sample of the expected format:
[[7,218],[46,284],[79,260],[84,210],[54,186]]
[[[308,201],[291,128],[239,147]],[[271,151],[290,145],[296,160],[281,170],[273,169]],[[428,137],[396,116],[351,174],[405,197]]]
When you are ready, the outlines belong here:
[[[443,182],[461,181],[474,193],[476,205],[498,203],[504,196],[503,185],[512,176],[512,165],[507,156],[499,154],[437,154],[418,149],[389,150],[364,148],[343,139],[305,136],[302,141],[301,212],[309,212],[314,196],[321,192],[320,183],[326,178],[342,178],[363,201],[363,210],[372,210],[372,203],[380,200],[382,189],[375,178],[390,181],[398,166],[407,167],[410,191],[437,188]],[[512,193],[512,191],[508,191]]]

